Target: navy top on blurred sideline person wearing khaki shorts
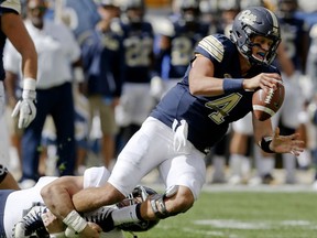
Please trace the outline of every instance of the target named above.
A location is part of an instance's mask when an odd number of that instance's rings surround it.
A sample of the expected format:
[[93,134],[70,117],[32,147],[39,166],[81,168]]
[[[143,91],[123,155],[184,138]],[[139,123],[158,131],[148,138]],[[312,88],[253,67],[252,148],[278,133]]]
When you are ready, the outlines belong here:
[[81,45],[81,54],[88,94],[119,97],[124,72],[122,37],[114,31],[96,30]]

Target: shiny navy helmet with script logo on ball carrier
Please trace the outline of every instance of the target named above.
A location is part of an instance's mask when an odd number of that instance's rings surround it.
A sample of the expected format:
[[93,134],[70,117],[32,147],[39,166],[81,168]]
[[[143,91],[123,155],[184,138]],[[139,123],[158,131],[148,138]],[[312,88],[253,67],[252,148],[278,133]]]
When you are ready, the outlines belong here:
[[[273,41],[263,61],[252,55],[252,46],[254,46],[254,44],[251,40],[255,35],[265,36]],[[281,42],[278,20],[276,15],[266,8],[249,7],[234,18],[230,39],[251,65],[270,65],[276,56],[276,50]]]

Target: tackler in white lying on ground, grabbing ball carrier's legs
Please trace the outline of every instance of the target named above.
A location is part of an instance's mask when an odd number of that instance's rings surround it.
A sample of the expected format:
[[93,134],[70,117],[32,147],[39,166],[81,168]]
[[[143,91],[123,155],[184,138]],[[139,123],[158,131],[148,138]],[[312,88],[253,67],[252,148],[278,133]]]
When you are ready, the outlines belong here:
[[[83,190],[85,187],[98,187],[106,183],[110,173],[109,171],[101,167],[90,167],[85,171],[84,176],[65,176],[63,177],[63,186],[69,191]],[[48,230],[52,226],[54,226],[53,221],[55,221],[55,231],[56,231],[56,219],[54,219],[53,215],[50,215],[48,209],[45,207],[44,202],[41,197],[41,190],[55,181],[57,177],[55,176],[43,176],[36,183],[36,185],[32,188],[28,190],[0,190],[0,237],[31,237],[36,235],[39,237],[48,237],[47,231],[44,229],[44,224],[47,226]],[[72,192],[70,192],[72,193]],[[90,232],[86,237],[99,237],[99,232],[101,228],[95,223],[99,223],[102,226],[102,223],[106,221],[109,212],[112,209],[122,208],[124,206],[129,206],[131,204],[138,203],[140,197],[142,196],[140,202],[145,198],[149,194],[155,194],[155,192],[149,187],[136,186],[133,193],[127,197],[127,199],[117,204],[116,206],[101,207],[100,209],[85,214],[84,216],[88,220],[85,225],[89,224],[89,227],[95,229],[96,232]],[[14,208],[14,213],[12,209]],[[30,212],[29,212],[30,210]],[[53,217],[53,218],[52,218]],[[99,219],[97,218],[99,217]],[[43,221],[42,221],[43,218]],[[47,220],[48,219],[48,220]],[[51,223],[50,223],[51,220]],[[89,223],[92,221],[92,223]],[[44,224],[43,224],[44,223]],[[53,224],[53,225],[52,225]],[[62,224],[62,221],[59,221]],[[112,238],[122,238],[123,230],[127,231],[144,231],[147,228],[153,227],[157,223],[145,224],[145,223],[134,223],[134,224],[121,224],[119,227],[110,227],[107,232],[102,232],[100,236],[102,237],[112,237]],[[51,226],[51,227],[50,227]],[[59,226],[61,227],[61,226]],[[65,237],[65,225],[61,227],[56,234],[51,234],[50,237]],[[84,227],[85,228],[85,227]],[[50,230],[50,231],[51,231]],[[53,229],[54,230],[54,229]],[[105,228],[103,228],[105,230]],[[14,234],[14,235],[13,235]],[[72,234],[72,229],[68,229],[68,236]],[[72,236],[73,237],[73,236]]]

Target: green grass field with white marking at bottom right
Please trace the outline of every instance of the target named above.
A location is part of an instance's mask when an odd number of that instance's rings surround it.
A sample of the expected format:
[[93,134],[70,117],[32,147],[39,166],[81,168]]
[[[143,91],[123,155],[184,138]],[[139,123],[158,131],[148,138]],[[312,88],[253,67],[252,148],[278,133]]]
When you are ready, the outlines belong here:
[[203,192],[186,214],[161,220],[150,231],[136,235],[139,238],[315,238],[317,193]]

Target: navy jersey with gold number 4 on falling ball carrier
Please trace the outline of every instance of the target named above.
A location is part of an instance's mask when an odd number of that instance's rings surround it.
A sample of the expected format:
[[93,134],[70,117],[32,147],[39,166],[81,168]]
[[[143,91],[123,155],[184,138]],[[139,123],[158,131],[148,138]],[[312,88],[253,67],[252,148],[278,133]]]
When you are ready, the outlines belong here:
[[[215,65],[215,77],[242,78],[239,52],[225,35],[209,35],[201,40],[195,53],[209,58]],[[229,123],[244,117],[252,110],[253,91],[237,91],[215,97],[194,96],[189,93],[188,73],[154,108],[151,116],[168,127],[174,119],[188,123],[188,140],[200,151],[215,145],[226,134]],[[254,66],[243,78],[260,73],[278,73],[273,66]]]

